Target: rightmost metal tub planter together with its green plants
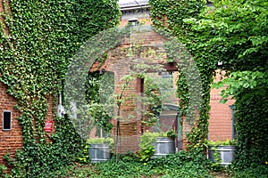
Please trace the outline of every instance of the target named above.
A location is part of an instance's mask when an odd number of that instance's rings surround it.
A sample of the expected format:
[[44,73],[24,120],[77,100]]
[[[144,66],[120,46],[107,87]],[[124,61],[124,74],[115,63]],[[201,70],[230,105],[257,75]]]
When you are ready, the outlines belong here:
[[234,159],[236,152],[235,141],[207,141],[208,158],[222,166],[228,166]]

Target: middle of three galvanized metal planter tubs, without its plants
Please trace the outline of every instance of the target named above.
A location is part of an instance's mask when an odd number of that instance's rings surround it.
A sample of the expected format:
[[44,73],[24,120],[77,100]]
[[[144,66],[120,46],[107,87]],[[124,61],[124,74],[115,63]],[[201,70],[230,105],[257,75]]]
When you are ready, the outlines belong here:
[[154,147],[155,154],[151,158],[165,157],[176,151],[174,139],[168,137],[157,138]]

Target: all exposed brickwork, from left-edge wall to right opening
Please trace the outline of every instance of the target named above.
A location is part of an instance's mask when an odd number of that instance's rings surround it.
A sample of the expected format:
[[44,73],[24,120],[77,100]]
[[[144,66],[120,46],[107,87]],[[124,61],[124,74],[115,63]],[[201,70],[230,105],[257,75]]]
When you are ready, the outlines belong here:
[[[2,0],[0,0],[0,12],[3,12]],[[139,18],[140,20],[142,18]],[[125,26],[128,20],[122,19],[121,26]],[[150,19],[145,19],[145,24],[150,24]],[[6,33],[8,31],[6,29]],[[141,37],[141,38],[138,38]],[[106,71],[113,72],[114,83],[115,83],[115,93],[121,93],[121,77],[128,75],[130,73],[130,68],[135,66],[134,63],[138,61],[147,61],[148,59],[153,60],[156,63],[163,64],[166,61],[166,54],[163,51],[163,37],[155,33],[152,30],[147,30],[146,33],[142,33],[141,36],[132,36],[133,41],[131,43],[140,43],[138,39],[142,39],[142,50],[136,52],[139,56],[135,58],[127,57],[130,49],[130,39],[125,40],[123,44],[120,44],[116,49],[108,53],[108,59],[102,66],[96,63],[94,67],[96,69],[105,69]],[[135,47],[132,48],[135,53]],[[150,52],[150,53],[148,53]],[[133,59],[138,60],[133,63]],[[132,65],[133,64],[133,65]],[[167,65],[167,64],[166,64]],[[167,67],[174,71],[173,66]],[[1,77],[1,76],[0,76]],[[137,106],[137,102],[134,100],[134,96],[141,91],[140,81],[133,80],[129,85],[129,89],[123,93],[123,97],[129,97],[128,101],[124,104],[121,109],[121,152],[125,151],[138,151],[139,136],[141,134],[141,123],[140,118],[136,112],[133,110]],[[7,87],[0,82],[0,165],[4,164],[3,156],[9,151],[11,155],[14,155],[15,150],[20,149],[22,146],[22,135],[21,126],[16,119],[20,117],[20,112],[13,107],[16,105],[17,101],[12,95],[6,93]],[[211,92],[211,112],[209,120],[209,135],[210,140],[225,140],[231,139],[232,134],[232,113],[230,105],[234,101],[227,101],[225,104],[219,103],[221,97],[219,95],[220,91],[213,89]],[[48,97],[48,111],[46,115],[46,120],[53,120],[53,97]],[[178,102],[178,101],[177,101]],[[173,104],[176,104],[176,100]],[[12,112],[12,129],[10,131],[3,131],[3,117],[2,114],[4,110],[9,110]],[[176,127],[176,114],[175,109],[171,109],[169,113],[163,113],[160,123],[163,125],[169,125],[171,127]],[[128,117],[129,115],[136,117]],[[185,121],[183,123],[186,123]],[[116,125],[115,120],[113,120],[113,125]],[[149,128],[147,128],[149,129]],[[183,147],[185,148],[185,143],[187,142],[185,138],[185,132],[189,130],[187,124],[183,125]],[[116,128],[113,128],[113,134],[116,134]]]

